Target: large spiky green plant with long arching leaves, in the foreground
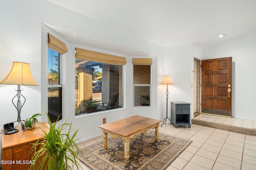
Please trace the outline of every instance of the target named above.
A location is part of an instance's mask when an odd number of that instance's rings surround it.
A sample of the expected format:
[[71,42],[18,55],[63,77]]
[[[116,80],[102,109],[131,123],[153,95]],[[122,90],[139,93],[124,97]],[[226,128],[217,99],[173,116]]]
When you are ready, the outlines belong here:
[[[50,126],[43,130],[44,138],[38,139],[31,149],[32,159],[36,164],[30,165],[30,170],[73,170],[79,169],[78,152],[81,150],[74,139],[78,129],[71,134],[72,123],[52,123],[46,112]],[[46,126],[46,125],[45,125]]]

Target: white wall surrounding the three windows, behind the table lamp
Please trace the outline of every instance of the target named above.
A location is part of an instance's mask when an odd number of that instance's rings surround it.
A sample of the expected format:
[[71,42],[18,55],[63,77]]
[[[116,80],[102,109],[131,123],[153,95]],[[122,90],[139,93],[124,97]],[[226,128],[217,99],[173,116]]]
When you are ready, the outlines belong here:
[[[81,22],[82,21],[82,22]],[[153,57],[152,73],[152,93],[155,98],[150,108],[150,117],[163,118],[162,103],[163,94],[159,84],[163,76],[163,67],[158,64],[163,62],[164,48],[133,35],[128,35],[122,30],[116,30],[113,27],[101,25],[98,21],[81,16],[75,12],[56,6],[45,0],[13,0],[1,2],[0,6],[0,80],[2,80],[10,70],[12,61],[22,61],[30,63],[32,75],[39,86],[22,86],[22,93],[26,97],[26,103],[22,108],[21,118],[25,119],[34,113],[42,113],[42,121],[46,121],[45,111],[47,110],[47,32],[52,33],[58,39],[63,41],[68,52],[63,57],[64,77],[63,77],[63,119],[74,124],[74,128],[79,128],[77,138],[81,141],[101,135],[98,125],[102,124],[102,119],[106,117],[106,122],[112,122],[122,119],[133,113],[128,112],[130,107],[128,97],[132,94],[130,87],[132,81],[129,80],[130,74],[130,56],[133,51],[148,53]],[[57,28],[57,29],[56,29]],[[65,29],[69,33],[78,33],[79,35],[98,39],[107,45],[122,47],[124,53],[101,49],[97,43],[84,45],[76,42],[76,37],[67,39],[65,35],[60,35],[58,29]],[[74,34],[75,35],[75,34]],[[85,116],[74,116],[74,48],[80,47],[98,52],[109,53],[127,57],[127,66],[125,66],[125,94],[124,109],[114,109],[104,113],[95,113]],[[125,50],[122,50],[125,49]],[[128,50],[128,51],[126,51]],[[130,50],[130,51],[129,51]],[[136,53],[134,53],[136,55]],[[144,56],[145,57],[145,56]],[[148,58],[148,57],[147,57]],[[0,127],[5,123],[17,119],[16,110],[11,102],[16,86],[0,84]],[[162,90],[161,90],[162,92]],[[158,102],[160,101],[160,102]],[[147,113],[147,109],[140,112]],[[152,114],[153,113],[153,114]],[[146,114],[148,115],[148,114]]]

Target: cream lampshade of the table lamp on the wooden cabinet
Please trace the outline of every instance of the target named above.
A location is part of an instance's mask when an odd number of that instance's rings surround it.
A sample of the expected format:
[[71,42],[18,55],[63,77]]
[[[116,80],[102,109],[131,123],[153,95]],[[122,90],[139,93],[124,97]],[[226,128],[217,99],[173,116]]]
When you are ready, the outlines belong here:
[[12,68],[7,76],[0,81],[0,84],[17,84],[38,86],[30,72],[29,64],[22,62],[12,62]]

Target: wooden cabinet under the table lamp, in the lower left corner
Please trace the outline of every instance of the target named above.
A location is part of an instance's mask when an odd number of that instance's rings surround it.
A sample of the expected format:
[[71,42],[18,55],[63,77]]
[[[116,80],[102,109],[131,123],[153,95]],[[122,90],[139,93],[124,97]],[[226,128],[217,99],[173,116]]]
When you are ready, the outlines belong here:
[[44,138],[41,129],[48,131],[47,127],[49,127],[48,123],[42,122],[42,124],[36,123],[34,129],[22,131],[21,126],[18,126],[16,127],[19,129],[17,133],[11,135],[2,133],[2,160],[8,161],[6,162],[8,164],[2,164],[2,170],[28,170],[30,163],[33,162],[30,153],[32,143]]

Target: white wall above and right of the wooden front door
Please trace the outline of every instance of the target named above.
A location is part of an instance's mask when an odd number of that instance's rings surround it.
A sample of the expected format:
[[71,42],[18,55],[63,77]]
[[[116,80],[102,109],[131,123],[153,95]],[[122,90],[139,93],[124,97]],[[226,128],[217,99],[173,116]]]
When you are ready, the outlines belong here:
[[232,117],[256,119],[256,31],[203,50],[203,59],[232,57]]

